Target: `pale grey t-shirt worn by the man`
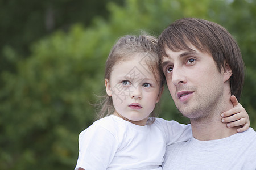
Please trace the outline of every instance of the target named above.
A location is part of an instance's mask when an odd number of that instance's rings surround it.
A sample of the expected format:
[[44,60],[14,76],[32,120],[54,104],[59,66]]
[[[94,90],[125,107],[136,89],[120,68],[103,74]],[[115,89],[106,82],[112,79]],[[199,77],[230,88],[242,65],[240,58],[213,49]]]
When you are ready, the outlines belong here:
[[167,146],[163,169],[256,169],[256,132],[212,141],[195,138]]

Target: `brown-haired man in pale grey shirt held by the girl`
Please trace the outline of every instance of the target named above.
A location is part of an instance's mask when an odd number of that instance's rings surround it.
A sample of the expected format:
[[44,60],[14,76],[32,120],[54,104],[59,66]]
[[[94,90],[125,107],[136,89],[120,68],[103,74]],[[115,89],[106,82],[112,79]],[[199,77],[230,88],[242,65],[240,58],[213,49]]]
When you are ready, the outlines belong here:
[[193,137],[168,146],[163,169],[256,169],[256,132],[237,133],[221,113],[239,100],[244,63],[236,41],[220,25],[177,20],[159,36],[159,54],[176,107],[190,118]]

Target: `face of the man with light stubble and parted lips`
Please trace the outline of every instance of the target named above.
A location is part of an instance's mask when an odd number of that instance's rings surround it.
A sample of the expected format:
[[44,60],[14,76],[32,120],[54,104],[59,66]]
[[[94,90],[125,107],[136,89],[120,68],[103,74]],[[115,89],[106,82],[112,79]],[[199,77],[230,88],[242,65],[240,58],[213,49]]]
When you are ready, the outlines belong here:
[[228,77],[223,69],[218,71],[210,54],[190,48],[177,52],[166,48],[168,57],[163,57],[162,66],[176,107],[184,116],[199,119],[220,109]]

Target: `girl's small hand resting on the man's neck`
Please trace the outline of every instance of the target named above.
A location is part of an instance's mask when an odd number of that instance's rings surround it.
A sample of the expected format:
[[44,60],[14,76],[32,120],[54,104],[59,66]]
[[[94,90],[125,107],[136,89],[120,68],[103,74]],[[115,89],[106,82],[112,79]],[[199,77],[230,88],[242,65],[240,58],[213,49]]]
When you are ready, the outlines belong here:
[[237,132],[246,131],[250,127],[248,113],[245,111],[245,108],[243,108],[242,105],[238,103],[237,98],[235,96],[231,96],[230,101],[232,102],[234,107],[229,111],[223,112],[221,114],[221,117],[225,117],[222,118],[221,121],[223,123],[228,123],[226,124],[228,128],[241,126],[242,128],[238,128]]

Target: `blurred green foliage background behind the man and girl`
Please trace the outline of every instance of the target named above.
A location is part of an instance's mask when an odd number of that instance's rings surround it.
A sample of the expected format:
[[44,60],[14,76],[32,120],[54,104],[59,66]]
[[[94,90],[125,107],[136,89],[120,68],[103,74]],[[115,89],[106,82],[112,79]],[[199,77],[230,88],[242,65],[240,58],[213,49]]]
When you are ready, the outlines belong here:
[[[0,1],[0,169],[73,169],[78,135],[95,120],[115,40],[159,36],[183,17],[211,20],[238,41],[240,103],[256,129],[255,0]],[[160,117],[189,123],[164,92]]]

